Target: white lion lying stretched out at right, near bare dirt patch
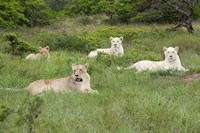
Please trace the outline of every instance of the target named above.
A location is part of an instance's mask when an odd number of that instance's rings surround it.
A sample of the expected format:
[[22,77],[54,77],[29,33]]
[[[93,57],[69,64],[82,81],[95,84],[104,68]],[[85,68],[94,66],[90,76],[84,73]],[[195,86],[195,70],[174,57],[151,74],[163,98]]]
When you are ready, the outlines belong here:
[[136,69],[138,72],[141,71],[157,71],[157,70],[177,70],[177,71],[189,71],[188,69],[185,69],[181,65],[181,61],[178,56],[178,50],[179,47],[163,47],[163,51],[165,54],[165,60],[164,61],[150,61],[150,60],[142,60],[139,62],[136,62],[130,67],[127,67],[125,69]]

